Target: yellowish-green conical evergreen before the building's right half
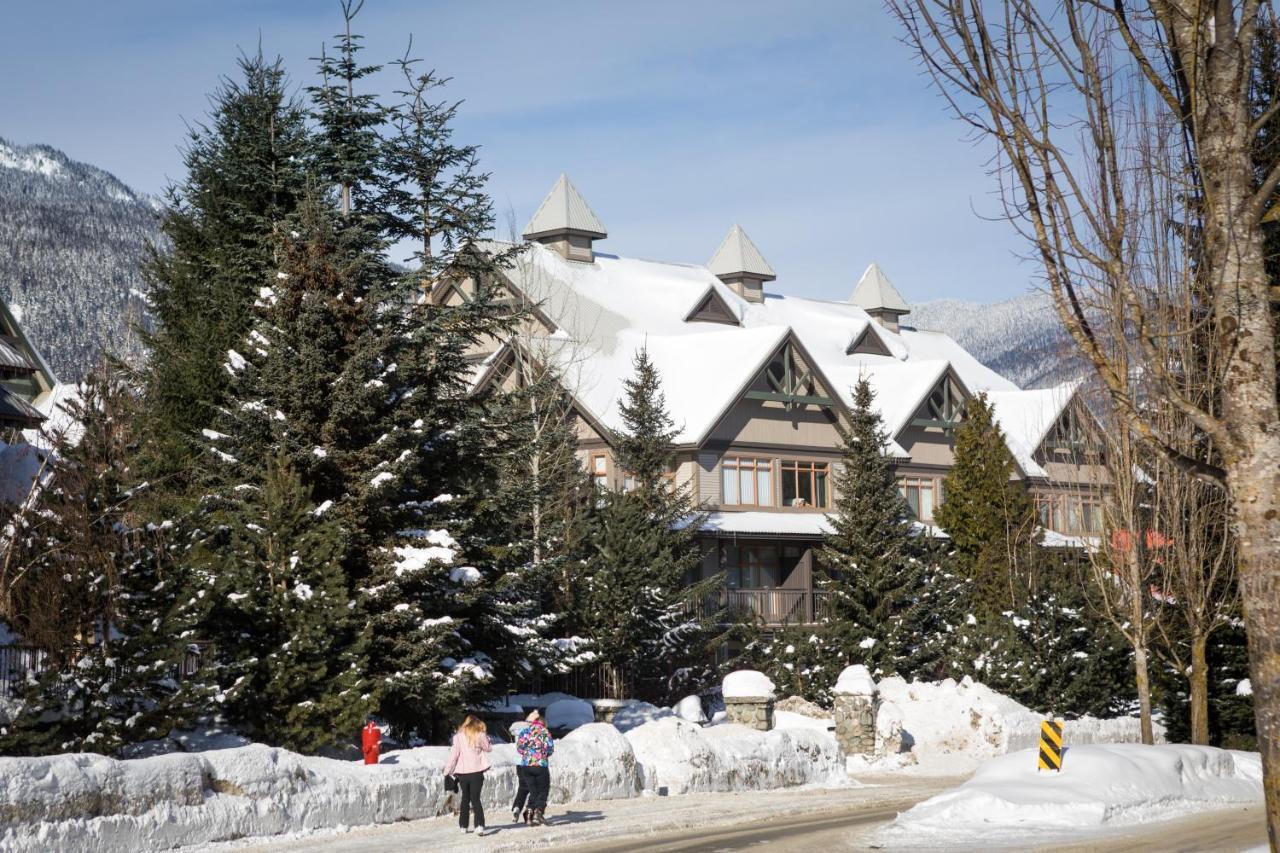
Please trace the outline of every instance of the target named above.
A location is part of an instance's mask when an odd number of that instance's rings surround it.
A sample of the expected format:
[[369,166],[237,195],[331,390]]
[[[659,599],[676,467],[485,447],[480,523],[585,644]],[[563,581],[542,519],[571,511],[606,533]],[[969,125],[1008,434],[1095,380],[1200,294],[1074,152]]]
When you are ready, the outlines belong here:
[[991,402],[978,394],[956,429],[955,465],[942,482],[943,500],[933,517],[973,581],[979,616],[1016,607],[1038,547],[1036,505],[1014,471]]

